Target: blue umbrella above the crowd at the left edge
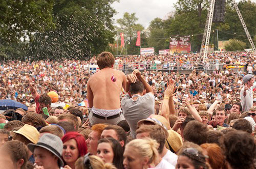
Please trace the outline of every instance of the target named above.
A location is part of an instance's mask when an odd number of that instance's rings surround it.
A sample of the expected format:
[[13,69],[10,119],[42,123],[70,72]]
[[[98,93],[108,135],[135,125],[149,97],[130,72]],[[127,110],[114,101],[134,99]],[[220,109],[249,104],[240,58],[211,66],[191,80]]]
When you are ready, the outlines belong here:
[[23,108],[24,110],[28,110],[28,107],[22,103],[19,103],[15,100],[6,99],[6,100],[0,100],[0,110],[8,110],[8,109],[14,109],[17,108]]

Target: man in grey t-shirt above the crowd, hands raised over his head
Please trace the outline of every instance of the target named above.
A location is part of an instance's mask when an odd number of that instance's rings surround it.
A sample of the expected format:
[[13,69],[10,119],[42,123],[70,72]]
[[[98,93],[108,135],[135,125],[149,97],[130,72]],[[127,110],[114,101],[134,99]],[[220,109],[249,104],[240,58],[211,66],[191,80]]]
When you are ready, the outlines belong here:
[[130,126],[131,135],[136,138],[138,121],[150,117],[155,112],[153,89],[145,81],[139,70],[127,75],[126,94],[121,101],[125,120]]

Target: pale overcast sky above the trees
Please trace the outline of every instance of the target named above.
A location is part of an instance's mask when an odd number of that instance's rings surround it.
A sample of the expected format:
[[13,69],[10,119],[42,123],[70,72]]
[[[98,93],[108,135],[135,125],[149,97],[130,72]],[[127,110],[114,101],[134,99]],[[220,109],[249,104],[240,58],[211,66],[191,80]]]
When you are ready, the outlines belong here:
[[[118,12],[114,19],[122,18],[125,12],[136,13],[136,17],[139,18],[137,23],[147,27],[150,22],[159,17],[164,19],[168,16],[168,13],[174,12],[174,3],[177,0],[119,0],[120,2],[113,3],[112,7]],[[236,0],[239,2],[239,0]],[[256,3],[256,0],[252,0]]]

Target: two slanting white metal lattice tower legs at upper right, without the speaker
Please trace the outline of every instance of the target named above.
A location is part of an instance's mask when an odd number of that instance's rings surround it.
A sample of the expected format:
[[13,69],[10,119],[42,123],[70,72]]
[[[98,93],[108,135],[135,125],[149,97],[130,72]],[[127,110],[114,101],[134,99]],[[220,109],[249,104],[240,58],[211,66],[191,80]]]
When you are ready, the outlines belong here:
[[[233,5],[234,5],[234,8],[237,11],[238,17],[239,17],[239,19],[240,19],[240,21],[241,21],[241,23],[244,27],[244,31],[246,33],[246,36],[247,36],[249,42],[250,42],[252,50],[254,50],[254,52],[256,52],[256,48],[253,44],[253,41],[251,39],[251,36],[250,36],[248,30],[247,30],[246,24],[244,22],[244,19],[243,19],[241,13],[240,13],[238,5],[237,5],[235,0],[232,0],[232,2],[233,2]],[[202,57],[202,54],[203,54],[203,62],[205,62],[205,60],[207,58],[207,54],[208,54],[212,17],[214,16],[214,6],[215,6],[215,0],[211,0],[210,1],[210,8],[208,10],[207,19],[206,19],[206,23],[205,23],[205,27],[204,27],[204,34],[203,34],[201,49],[200,49],[200,56]]]

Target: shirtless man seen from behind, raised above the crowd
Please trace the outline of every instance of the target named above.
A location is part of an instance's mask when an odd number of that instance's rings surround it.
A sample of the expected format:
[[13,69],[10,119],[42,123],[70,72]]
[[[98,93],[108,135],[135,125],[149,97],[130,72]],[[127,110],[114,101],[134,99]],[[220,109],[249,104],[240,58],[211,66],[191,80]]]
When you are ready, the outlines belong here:
[[112,53],[102,52],[96,60],[100,71],[93,74],[87,83],[90,123],[116,125],[124,120],[120,109],[120,92],[122,88],[125,89],[126,76],[113,68],[115,58]]

